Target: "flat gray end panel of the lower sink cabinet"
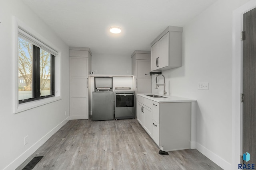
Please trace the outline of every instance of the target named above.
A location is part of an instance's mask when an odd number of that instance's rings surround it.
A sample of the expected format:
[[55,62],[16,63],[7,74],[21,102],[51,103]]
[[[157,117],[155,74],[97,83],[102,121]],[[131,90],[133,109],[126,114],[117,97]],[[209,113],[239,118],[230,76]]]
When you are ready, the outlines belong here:
[[189,149],[191,140],[191,102],[161,103],[160,146],[164,150]]

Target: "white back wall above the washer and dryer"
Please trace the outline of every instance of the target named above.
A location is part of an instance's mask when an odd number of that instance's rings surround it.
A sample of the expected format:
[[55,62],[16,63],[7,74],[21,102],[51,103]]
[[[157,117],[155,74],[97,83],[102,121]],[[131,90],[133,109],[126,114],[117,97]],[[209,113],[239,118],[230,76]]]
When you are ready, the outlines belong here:
[[95,74],[131,75],[131,55],[96,54],[92,51],[92,70],[97,70]]

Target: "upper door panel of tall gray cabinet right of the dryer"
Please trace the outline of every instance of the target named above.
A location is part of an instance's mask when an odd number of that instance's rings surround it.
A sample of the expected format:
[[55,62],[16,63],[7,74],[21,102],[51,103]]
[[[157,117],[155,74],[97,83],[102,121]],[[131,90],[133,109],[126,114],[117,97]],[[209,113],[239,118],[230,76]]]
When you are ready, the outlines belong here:
[[150,79],[150,60],[136,60],[137,62],[137,77]]

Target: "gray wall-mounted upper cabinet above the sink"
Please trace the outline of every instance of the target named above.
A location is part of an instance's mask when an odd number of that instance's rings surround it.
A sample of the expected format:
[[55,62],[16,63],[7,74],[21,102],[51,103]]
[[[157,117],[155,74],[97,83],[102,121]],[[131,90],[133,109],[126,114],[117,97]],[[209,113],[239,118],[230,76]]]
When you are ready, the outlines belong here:
[[182,27],[168,26],[151,43],[151,71],[182,66]]

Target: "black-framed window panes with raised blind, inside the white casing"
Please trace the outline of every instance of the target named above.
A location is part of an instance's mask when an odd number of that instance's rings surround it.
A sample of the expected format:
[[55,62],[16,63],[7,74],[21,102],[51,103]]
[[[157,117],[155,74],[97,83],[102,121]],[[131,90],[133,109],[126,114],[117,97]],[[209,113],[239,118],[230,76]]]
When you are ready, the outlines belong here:
[[54,96],[55,54],[47,45],[19,28],[19,104]]

